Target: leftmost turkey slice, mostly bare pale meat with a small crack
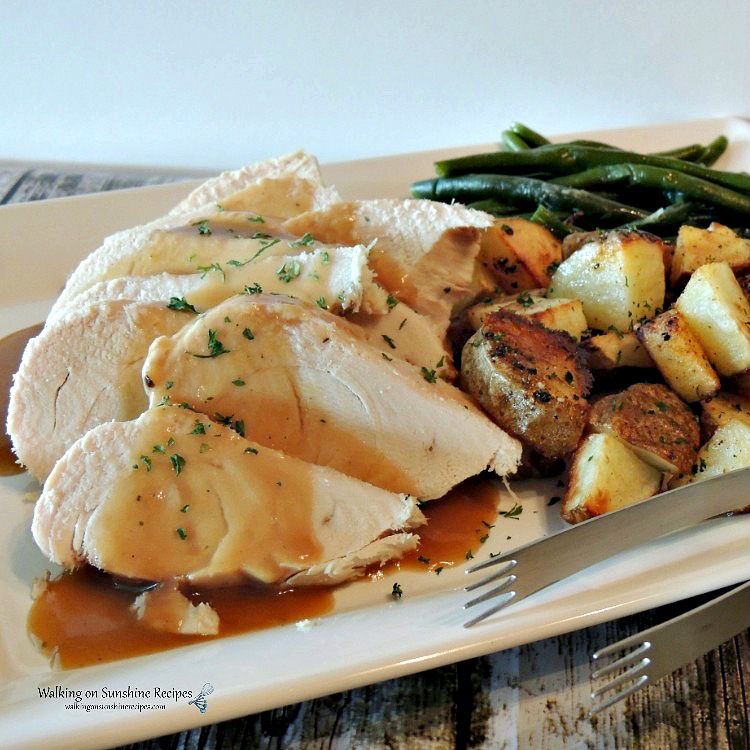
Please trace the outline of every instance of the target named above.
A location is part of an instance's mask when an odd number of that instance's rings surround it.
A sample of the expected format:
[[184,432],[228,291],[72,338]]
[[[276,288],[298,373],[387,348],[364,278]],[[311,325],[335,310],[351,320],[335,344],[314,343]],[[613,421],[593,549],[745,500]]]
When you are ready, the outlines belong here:
[[19,462],[43,482],[87,430],[148,407],[141,368],[151,342],[191,319],[163,303],[91,304],[45,325],[13,379],[7,432]]

